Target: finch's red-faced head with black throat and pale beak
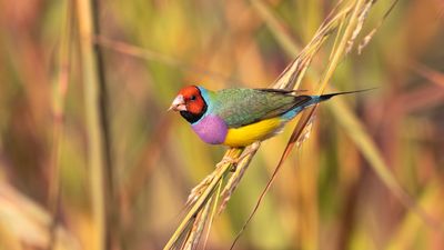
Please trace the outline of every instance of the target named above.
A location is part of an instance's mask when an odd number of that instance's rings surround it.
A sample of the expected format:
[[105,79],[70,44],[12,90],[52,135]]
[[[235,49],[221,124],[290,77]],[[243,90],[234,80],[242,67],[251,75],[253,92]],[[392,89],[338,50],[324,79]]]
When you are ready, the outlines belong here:
[[192,123],[205,113],[206,102],[196,86],[186,86],[179,91],[169,110],[180,111]]

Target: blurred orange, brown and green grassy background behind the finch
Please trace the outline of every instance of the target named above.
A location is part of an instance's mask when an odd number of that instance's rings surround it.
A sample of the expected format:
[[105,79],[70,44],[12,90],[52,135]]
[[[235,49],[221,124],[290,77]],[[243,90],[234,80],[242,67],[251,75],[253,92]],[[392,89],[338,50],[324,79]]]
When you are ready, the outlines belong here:
[[[376,2],[364,34],[391,3]],[[190,190],[225,150],[204,144],[180,116],[165,112],[179,89],[269,87],[334,2],[100,1],[93,40],[108,94],[103,161],[112,169],[103,186],[88,167],[97,106],[88,101],[81,36],[88,18],[79,4],[0,0],[0,249],[94,249],[94,183],[110,197],[111,249],[161,249]],[[333,99],[317,110],[310,139],[283,166],[238,249],[444,249],[443,231],[433,226],[444,221],[443,48],[444,3],[400,1],[330,84],[377,87],[341,99],[430,221],[386,188],[353,131],[339,124]],[[327,57],[320,52],[303,89],[316,90]],[[262,144],[206,249],[230,247],[291,130]]]

